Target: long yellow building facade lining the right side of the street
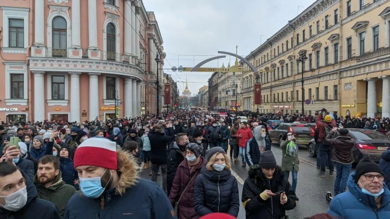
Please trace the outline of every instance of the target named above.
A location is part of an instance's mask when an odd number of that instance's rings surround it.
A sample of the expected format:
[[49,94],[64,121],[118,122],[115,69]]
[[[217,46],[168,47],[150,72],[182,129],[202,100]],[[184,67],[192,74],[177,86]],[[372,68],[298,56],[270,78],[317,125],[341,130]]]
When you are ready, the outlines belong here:
[[[317,0],[246,57],[243,109],[390,117],[390,0]],[[307,60],[297,62],[300,54]],[[262,104],[253,85],[262,83]],[[306,101],[308,104],[306,104]]]

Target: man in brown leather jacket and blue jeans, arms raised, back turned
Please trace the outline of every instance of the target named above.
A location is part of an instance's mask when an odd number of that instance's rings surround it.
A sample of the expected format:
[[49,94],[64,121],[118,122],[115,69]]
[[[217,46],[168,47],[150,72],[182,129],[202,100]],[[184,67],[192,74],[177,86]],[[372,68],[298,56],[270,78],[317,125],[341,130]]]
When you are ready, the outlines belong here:
[[333,135],[337,133],[337,128],[334,127],[324,139],[324,143],[333,147],[332,155],[329,154],[329,156],[335,162],[337,171],[334,185],[335,196],[339,193],[344,193],[347,187],[349,172],[354,161],[352,148],[356,142],[355,138],[349,134],[348,129],[340,129],[338,132],[339,136],[333,138]]

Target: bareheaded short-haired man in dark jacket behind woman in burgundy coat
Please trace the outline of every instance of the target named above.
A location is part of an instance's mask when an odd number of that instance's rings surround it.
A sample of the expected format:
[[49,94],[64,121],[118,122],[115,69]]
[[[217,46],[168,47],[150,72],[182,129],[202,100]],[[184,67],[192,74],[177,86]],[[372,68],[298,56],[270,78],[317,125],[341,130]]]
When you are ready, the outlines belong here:
[[167,164],[167,192],[170,194],[172,188],[172,182],[175,178],[176,170],[181,161],[184,160],[186,156],[186,145],[190,141],[185,133],[179,133],[176,136],[173,147],[169,150],[168,153],[168,164]]

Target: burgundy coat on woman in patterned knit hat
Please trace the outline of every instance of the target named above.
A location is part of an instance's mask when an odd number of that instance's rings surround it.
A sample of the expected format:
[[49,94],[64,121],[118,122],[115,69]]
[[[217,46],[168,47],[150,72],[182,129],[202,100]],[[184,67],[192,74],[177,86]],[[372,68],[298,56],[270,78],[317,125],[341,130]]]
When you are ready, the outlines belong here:
[[198,219],[200,216],[195,212],[194,208],[194,185],[196,177],[200,174],[200,170],[206,165],[206,159],[200,157],[199,164],[195,170],[190,174],[190,168],[188,168],[187,159],[184,158],[177,167],[176,175],[172,183],[172,189],[169,194],[169,201],[172,206],[175,206],[176,201],[179,200],[184,188],[187,186],[190,179],[195,177],[191,184],[188,185],[186,191],[184,191],[183,197],[179,201],[179,210],[177,212],[178,219]]

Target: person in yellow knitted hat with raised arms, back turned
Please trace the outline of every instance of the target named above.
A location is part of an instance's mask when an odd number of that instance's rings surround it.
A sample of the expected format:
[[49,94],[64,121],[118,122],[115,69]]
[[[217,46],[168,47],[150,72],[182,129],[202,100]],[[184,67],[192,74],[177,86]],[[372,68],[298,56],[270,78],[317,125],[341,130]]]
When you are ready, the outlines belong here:
[[[323,118],[323,113],[326,112],[326,109],[323,108],[319,111],[316,117],[316,125],[319,128],[318,134],[318,154],[317,161],[320,161],[321,169],[318,171],[318,177],[325,177],[325,167],[326,161],[328,161],[329,166],[329,176],[333,177],[334,163],[331,160],[331,148],[330,145],[324,143],[325,137],[329,134],[329,132],[333,129],[333,127],[337,127],[336,120],[332,119],[330,115],[325,115]],[[328,113],[329,114],[329,113]]]

